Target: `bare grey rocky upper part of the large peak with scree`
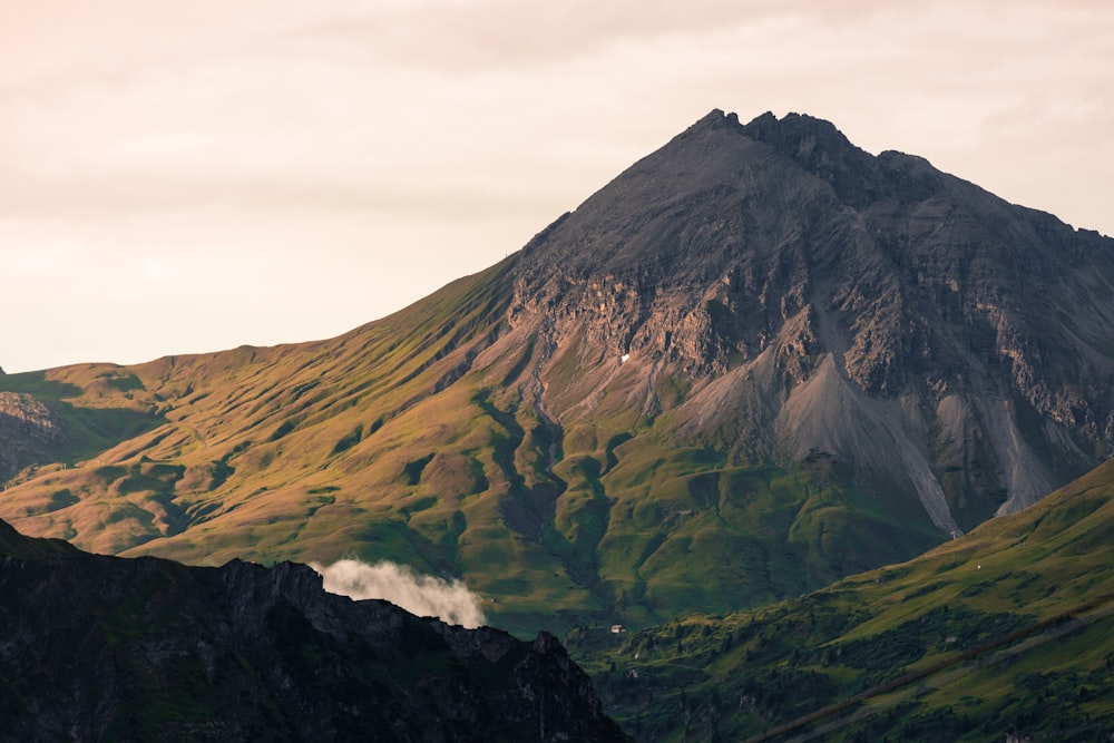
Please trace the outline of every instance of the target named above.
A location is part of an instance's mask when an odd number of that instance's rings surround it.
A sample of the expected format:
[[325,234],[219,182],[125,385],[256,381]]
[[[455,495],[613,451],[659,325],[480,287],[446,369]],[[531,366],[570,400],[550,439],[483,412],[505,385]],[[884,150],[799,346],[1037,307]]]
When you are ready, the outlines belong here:
[[1114,440],[1114,239],[808,116],[711,113],[525,248],[509,317],[558,423],[623,394],[682,441],[851,462],[945,532]]

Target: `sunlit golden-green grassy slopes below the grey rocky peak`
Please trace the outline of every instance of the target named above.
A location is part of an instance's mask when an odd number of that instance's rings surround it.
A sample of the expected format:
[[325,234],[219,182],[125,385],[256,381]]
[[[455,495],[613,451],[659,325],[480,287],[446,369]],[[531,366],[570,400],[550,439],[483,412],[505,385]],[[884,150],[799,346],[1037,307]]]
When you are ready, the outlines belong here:
[[[678,437],[629,404],[635,362],[549,420],[541,352],[508,319],[516,260],[329,341],[0,377],[72,442],[8,482],[0,518],[195,565],[389,559],[463,578],[522,635],[756,606],[939,544],[922,509],[830,457]],[[557,360],[554,394],[575,399],[578,363]],[[655,384],[668,407],[691,381]]]

